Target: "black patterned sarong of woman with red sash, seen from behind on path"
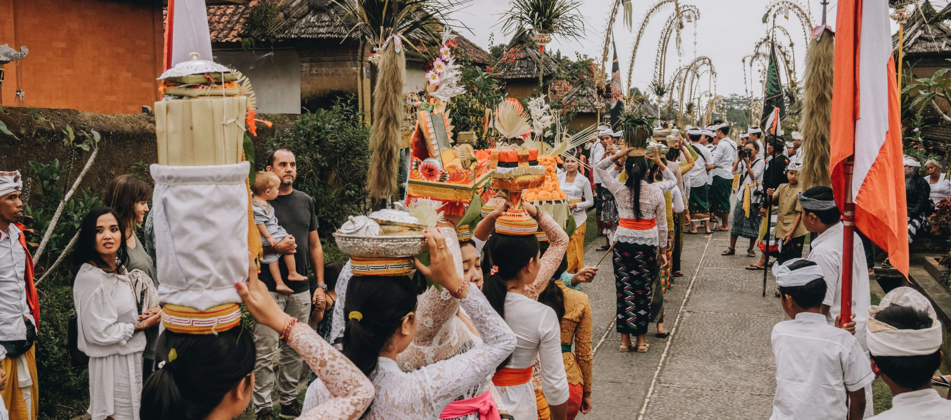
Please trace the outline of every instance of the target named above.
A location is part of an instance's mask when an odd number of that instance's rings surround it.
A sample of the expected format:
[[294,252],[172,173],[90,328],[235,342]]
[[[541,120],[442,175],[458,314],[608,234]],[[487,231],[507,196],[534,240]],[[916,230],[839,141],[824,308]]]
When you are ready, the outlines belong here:
[[[657,281],[657,247],[618,241],[614,245],[614,288],[617,292],[617,332],[647,334],[648,324],[657,314],[652,302]],[[656,294],[662,296],[662,294]],[[654,305],[651,305],[654,303]],[[651,311],[654,309],[654,311]]]

